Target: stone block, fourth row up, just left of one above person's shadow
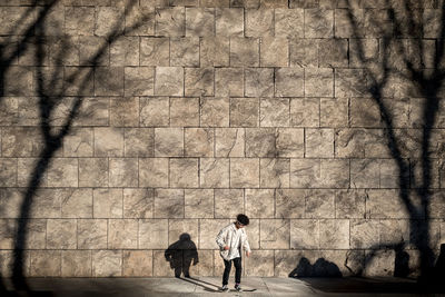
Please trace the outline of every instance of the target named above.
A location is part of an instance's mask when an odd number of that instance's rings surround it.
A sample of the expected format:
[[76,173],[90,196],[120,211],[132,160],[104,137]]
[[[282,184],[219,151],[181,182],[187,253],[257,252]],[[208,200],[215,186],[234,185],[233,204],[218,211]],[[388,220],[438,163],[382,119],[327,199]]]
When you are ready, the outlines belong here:
[[140,158],[139,187],[168,187],[168,159]]

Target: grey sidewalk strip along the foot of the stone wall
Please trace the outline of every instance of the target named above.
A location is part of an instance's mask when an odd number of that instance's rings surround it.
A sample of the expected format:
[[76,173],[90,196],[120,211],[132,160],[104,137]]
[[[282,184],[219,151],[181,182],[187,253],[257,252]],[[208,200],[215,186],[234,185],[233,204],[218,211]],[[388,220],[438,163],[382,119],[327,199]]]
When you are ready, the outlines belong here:
[[[230,279],[231,280],[231,279]],[[3,286],[9,296],[425,296],[414,280],[399,278],[260,278],[245,277],[244,289],[255,291],[220,293],[220,278],[28,278],[31,294],[11,293],[9,279]],[[2,294],[0,296],[8,296]],[[444,295],[429,295],[444,296]]]

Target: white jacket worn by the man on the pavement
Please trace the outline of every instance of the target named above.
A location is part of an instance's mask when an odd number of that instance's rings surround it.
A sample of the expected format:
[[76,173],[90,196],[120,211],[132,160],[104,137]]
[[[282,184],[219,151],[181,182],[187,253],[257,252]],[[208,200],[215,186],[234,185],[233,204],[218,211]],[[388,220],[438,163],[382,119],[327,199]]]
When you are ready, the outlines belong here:
[[[249,241],[247,241],[247,234],[246,230],[244,228],[240,229],[241,230],[241,250],[239,250],[240,255],[243,254],[243,249],[245,249],[246,251],[250,253],[250,246],[249,246]],[[235,226],[234,222],[227,225],[226,227],[224,227],[218,236],[216,237],[216,244],[219,246],[219,254],[221,255],[221,257],[225,260],[230,260],[233,259],[233,255],[236,253],[238,246],[237,242],[235,242],[234,237],[235,237],[235,232],[237,231],[237,228]],[[229,249],[225,250],[224,247],[228,246]]]

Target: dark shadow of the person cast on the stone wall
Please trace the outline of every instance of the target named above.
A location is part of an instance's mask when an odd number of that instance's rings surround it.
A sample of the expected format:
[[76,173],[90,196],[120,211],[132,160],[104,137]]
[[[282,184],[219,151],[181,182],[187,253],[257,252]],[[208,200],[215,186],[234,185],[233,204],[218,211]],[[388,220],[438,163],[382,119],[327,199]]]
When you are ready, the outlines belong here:
[[170,268],[175,270],[175,277],[190,277],[190,265],[199,263],[198,250],[190,239],[189,234],[181,234],[179,240],[171,244],[165,253],[166,260],[170,263]]

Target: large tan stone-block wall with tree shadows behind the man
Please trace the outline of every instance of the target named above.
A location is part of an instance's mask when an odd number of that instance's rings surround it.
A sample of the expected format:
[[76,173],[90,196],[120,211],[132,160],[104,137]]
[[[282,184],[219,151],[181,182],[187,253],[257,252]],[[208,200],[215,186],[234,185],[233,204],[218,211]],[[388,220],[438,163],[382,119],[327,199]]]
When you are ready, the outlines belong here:
[[[393,275],[395,242],[416,274],[413,221],[425,214],[399,199],[354,40],[382,61],[373,21],[385,10],[373,13],[384,1],[353,1],[362,34],[346,1],[32,2],[0,1],[1,275],[22,225],[28,276],[172,276],[165,251],[182,234],[199,257],[191,275],[219,276],[215,237],[239,212],[251,218],[246,276],[286,277],[305,258]],[[434,48],[441,9],[419,2]],[[424,99],[412,89],[394,78],[384,102],[414,180]],[[434,250],[445,240],[444,127],[439,113]]]

